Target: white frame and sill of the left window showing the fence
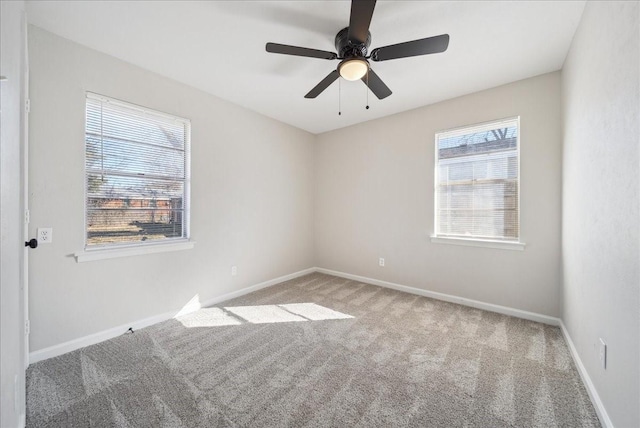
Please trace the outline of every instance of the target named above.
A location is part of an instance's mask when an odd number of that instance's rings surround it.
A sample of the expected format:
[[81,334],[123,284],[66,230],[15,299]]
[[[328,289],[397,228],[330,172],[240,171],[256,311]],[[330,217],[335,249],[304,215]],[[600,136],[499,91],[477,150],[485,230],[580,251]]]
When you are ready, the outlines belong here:
[[[107,97],[104,95],[99,95],[93,92],[86,92],[85,98],[85,109],[86,109],[86,100],[94,99],[101,102],[109,103],[112,105],[119,105],[125,107],[127,109],[137,110],[143,112],[145,114],[150,114],[153,116],[164,117],[170,120],[174,120],[177,122],[181,122],[185,125],[185,148],[184,148],[184,157],[185,157],[185,180],[184,180],[184,192],[183,192],[183,204],[184,204],[184,214],[183,214],[183,229],[185,231],[184,237],[181,238],[166,238],[161,240],[154,240],[149,242],[130,242],[130,243],[114,243],[114,244],[105,244],[100,246],[88,246],[87,245],[87,167],[86,167],[86,151],[85,151],[85,166],[83,169],[83,182],[84,185],[84,224],[83,224],[83,239],[84,239],[84,250],[78,251],[74,253],[74,257],[78,263],[93,261],[93,260],[102,260],[102,259],[111,259],[118,257],[129,257],[135,255],[142,254],[152,254],[152,253],[162,253],[168,251],[179,251],[179,250],[188,250],[193,248],[195,242],[191,240],[191,121],[189,119],[185,119],[178,116],[173,116],[161,111],[153,110],[147,107],[142,107],[136,104],[128,103],[125,101],[121,101],[115,98]],[[84,122],[84,132],[83,136],[86,135],[86,118]]]

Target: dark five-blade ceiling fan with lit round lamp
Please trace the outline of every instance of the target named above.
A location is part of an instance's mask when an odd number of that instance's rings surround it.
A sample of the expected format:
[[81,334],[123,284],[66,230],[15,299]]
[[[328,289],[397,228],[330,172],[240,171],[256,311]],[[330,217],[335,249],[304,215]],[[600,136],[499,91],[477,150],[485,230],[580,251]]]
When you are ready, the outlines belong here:
[[376,48],[369,54],[371,33],[369,25],[373,16],[376,0],[351,0],[351,16],[349,26],[336,34],[335,46],[338,53],[298,46],[267,43],[267,52],[285,55],[297,55],[309,58],[334,60],[339,59],[338,68],[320,81],[305,98],[315,98],[329,87],[338,77],[346,80],[362,80],[371,91],[383,99],[391,95],[391,89],[371,69],[371,61],[387,61],[418,55],[440,53],[449,46],[449,35],[427,37],[410,42]]

